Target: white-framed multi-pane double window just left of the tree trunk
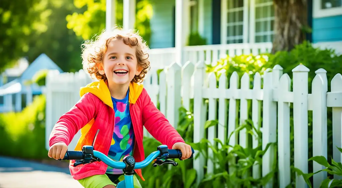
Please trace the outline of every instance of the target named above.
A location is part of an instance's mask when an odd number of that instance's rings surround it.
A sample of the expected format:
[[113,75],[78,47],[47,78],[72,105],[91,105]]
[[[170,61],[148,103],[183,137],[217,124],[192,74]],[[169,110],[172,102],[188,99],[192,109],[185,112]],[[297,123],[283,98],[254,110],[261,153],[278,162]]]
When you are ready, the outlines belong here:
[[273,0],[222,0],[221,3],[221,7],[226,7],[221,11],[221,43],[273,41]]

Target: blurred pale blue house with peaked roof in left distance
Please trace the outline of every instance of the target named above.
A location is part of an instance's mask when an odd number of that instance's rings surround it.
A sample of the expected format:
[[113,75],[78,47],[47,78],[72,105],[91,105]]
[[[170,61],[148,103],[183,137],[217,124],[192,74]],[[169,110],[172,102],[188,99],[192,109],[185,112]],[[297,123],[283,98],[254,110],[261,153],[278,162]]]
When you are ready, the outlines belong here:
[[39,55],[30,65],[21,58],[13,68],[6,69],[0,76],[0,113],[21,111],[32,102],[34,95],[42,93],[37,84],[27,84],[40,70],[63,72],[46,54]]

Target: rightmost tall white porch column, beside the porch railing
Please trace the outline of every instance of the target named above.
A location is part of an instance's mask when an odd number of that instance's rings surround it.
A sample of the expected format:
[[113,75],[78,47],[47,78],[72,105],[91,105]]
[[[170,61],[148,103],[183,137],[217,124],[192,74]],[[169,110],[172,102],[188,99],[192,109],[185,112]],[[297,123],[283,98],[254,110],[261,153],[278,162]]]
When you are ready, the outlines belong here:
[[[187,38],[190,30],[190,7],[189,0],[175,0],[175,48],[176,48],[176,63],[184,65],[184,46],[187,43]],[[193,62],[197,63],[197,62]]]

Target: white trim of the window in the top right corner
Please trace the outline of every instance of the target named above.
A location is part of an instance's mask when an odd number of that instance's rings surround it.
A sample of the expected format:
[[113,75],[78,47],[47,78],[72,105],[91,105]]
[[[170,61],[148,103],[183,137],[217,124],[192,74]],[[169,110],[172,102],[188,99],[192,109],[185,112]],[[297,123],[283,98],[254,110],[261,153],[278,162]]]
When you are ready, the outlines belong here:
[[321,9],[322,0],[313,0],[313,18],[342,15],[342,6],[329,9]]

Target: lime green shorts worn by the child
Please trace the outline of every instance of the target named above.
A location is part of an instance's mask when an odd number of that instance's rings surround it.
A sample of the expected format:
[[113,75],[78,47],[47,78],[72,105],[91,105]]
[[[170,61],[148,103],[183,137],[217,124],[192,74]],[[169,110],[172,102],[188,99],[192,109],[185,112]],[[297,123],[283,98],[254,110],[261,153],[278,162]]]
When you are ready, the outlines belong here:
[[[110,176],[110,178],[108,177]],[[83,179],[78,180],[78,182],[84,188],[102,188],[107,185],[114,185],[124,179],[123,175],[112,175],[112,174],[103,174],[103,175],[93,175]],[[133,183],[134,188],[142,188],[138,178],[133,175]]]

